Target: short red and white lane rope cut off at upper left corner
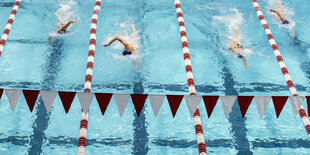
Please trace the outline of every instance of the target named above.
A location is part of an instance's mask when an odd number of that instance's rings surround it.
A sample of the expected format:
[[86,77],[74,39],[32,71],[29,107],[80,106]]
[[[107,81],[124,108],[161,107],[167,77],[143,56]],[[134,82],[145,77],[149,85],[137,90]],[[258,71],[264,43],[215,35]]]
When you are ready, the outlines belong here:
[[7,38],[8,38],[9,33],[10,33],[10,30],[11,30],[12,24],[14,22],[14,18],[16,16],[16,13],[17,13],[17,10],[18,10],[18,6],[19,6],[20,2],[21,2],[21,0],[16,0],[15,1],[13,9],[12,9],[12,12],[11,12],[11,15],[10,15],[9,20],[8,20],[6,26],[5,26],[4,31],[3,31],[3,34],[2,34],[2,37],[1,37],[1,40],[0,40],[0,56],[2,54],[5,42],[6,42]]

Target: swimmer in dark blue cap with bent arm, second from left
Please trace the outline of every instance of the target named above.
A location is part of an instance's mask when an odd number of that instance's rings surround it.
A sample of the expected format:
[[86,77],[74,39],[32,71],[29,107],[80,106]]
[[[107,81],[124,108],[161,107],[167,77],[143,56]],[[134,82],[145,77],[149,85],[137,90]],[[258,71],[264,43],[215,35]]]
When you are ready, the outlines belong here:
[[[136,27],[135,25],[131,25],[132,27],[132,30],[133,30],[133,33],[137,33],[136,31]],[[104,47],[108,47],[110,46],[114,41],[119,41],[120,43],[122,43],[125,47],[125,50],[123,51],[123,56],[126,56],[126,55],[132,55],[132,54],[136,54],[136,49],[130,45],[128,42],[126,42],[123,38],[119,37],[119,36],[115,36],[113,37],[109,43],[107,44],[102,44],[102,46]],[[136,65],[138,66],[140,64],[140,61],[139,60],[136,60]]]

